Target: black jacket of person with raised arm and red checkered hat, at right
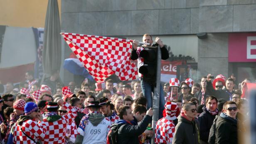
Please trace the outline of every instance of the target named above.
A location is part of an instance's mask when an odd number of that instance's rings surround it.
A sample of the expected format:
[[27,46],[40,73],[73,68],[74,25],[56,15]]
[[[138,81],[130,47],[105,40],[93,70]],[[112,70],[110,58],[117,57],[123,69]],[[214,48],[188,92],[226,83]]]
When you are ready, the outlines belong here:
[[[209,92],[210,95],[214,95],[217,99],[223,98],[225,100],[229,100],[229,93],[227,93],[227,90],[214,90],[212,87],[212,82],[207,81],[206,90]],[[234,93],[234,90],[232,91],[232,94]]]

